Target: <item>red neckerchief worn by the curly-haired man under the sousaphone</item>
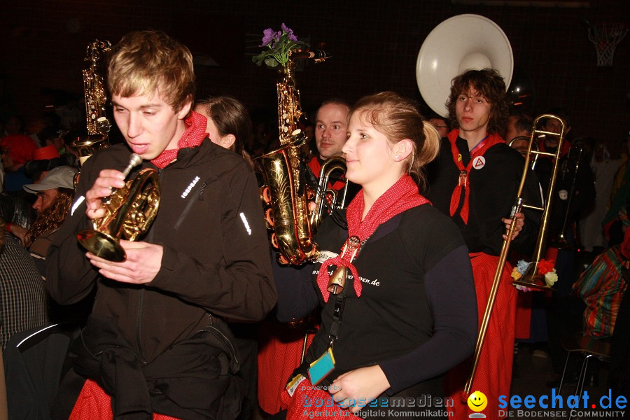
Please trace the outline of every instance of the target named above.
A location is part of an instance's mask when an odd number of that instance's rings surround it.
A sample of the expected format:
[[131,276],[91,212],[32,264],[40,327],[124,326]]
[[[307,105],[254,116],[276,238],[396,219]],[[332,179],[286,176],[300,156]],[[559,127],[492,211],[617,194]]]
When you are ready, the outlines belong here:
[[477,147],[479,146],[477,145],[475,146],[475,148],[472,149],[472,153],[470,154],[470,162],[468,162],[468,165],[464,167],[457,145],[455,144],[457,137],[459,137],[458,128],[449,132],[448,138],[449,142],[451,143],[451,153],[453,153],[453,160],[455,162],[455,165],[459,169],[459,179],[457,181],[455,189],[453,190],[453,195],[451,195],[450,212],[452,217],[455,214],[455,211],[457,211],[457,207],[459,207],[459,200],[461,197],[461,190],[463,188],[464,204],[461,207],[461,211],[459,211],[459,215],[461,216],[461,220],[463,220],[464,224],[468,225],[468,190],[470,189],[470,169],[472,169],[472,161],[475,160],[477,156],[483,156],[484,153],[486,153],[486,151],[495,144],[505,143],[505,141],[501,139],[498,134],[489,134],[488,137],[483,140],[484,143],[481,147]]

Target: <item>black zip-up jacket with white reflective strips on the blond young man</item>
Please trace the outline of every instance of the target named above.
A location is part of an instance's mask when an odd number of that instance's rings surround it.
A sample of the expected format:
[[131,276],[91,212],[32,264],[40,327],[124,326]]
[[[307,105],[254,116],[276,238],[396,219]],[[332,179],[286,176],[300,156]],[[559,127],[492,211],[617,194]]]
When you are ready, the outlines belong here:
[[[183,148],[159,171],[158,216],[144,239],[164,247],[162,267],[144,286],[99,276],[76,233],[91,228],[82,197],[102,169],[122,170],[130,151],[116,145],[83,165],[71,215],[48,251],[48,291],[61,304],[78,302],[97,286],[92,313],[109,318],[141,360],[207,324],[207,313],[258,321],[276,302],[269,243],[256,180],[246,162],[209,139]],[[144,161],[140,169],[153,167]]]

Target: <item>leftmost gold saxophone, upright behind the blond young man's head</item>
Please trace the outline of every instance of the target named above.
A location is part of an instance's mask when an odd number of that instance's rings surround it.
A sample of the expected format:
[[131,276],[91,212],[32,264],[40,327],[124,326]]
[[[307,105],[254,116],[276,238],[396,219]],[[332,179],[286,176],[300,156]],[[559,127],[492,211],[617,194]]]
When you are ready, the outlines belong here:
[[107,97],[103,77],[99,73],[99,59],[103,52],[110,49],[109,41],[96,40],[87,45],[85,61],[90,62],[90,67],[83,70],[87,137],[79,137],[71,144],[71,148],[78,153],[81,165],[97,150],[109,147],[107,134],[111,129],[111,123],[105,116]]

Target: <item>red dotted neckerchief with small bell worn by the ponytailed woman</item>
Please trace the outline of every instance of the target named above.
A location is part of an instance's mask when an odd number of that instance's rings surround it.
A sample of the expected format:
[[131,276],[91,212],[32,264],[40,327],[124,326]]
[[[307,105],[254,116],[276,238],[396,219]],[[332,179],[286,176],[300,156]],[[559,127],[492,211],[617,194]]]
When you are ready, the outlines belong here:
[[[328,296],[330,295],[327,290],[328,280],[330,279],[328,275],[329,265],[337,265],[337,267],[343,265],[350,269],[354,277],[354,291],[357,297],[360,297],[362,288],[361,281],[356,267],[354,267],[351,260],[354,255],[358,254],[360,247],[363,245],[363,241],[372,236],[372,233],[374,233],[374,230],[376,230],[379,225],[393,218],[393,216],[412,207],[427,203],[430,204],[426,198],[418,193],[418,186],[416,186],[412,177],[409,176],[409,174],[404,174],[372,204],[372,208],[367,212],[367,215],[365,215],[365,219],[361,221],[363,209],[365,209],[365,202],[363,201],[363,190],[360,190],[356,197],[354,197],[354,200],[349,204],[346,211],[348,239],[346,239],[342,246],[342,252],[335,258],[330,258],[322,262],[319,268],[319,274],[317,274],[317,284],[319,290],[321,290],[324,302],[328,302]],[[358,238],[359,242],[356,251],[351,250],[346,252],[348,248],[352,248],[348,246],[349,241],[351,241],[351,239],[356,240],[356,238]]]

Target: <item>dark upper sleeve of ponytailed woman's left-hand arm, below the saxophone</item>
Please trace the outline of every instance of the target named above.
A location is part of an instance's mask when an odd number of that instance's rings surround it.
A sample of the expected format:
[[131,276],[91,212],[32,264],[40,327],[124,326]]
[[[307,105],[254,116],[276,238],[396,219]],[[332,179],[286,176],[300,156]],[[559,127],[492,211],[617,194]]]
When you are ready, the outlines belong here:
[[274,279],[278,293],[276,318],[280,322],[298,321],[311,314],[319,305],[311,272],[314,265],[302,267],[281,267],[273,258]]

